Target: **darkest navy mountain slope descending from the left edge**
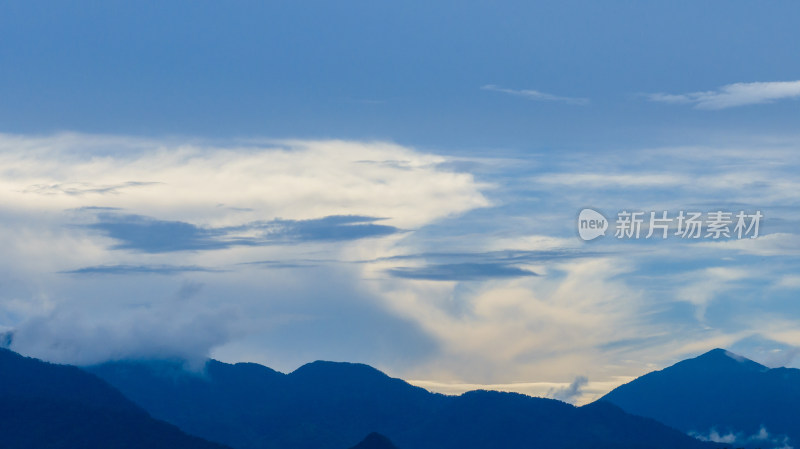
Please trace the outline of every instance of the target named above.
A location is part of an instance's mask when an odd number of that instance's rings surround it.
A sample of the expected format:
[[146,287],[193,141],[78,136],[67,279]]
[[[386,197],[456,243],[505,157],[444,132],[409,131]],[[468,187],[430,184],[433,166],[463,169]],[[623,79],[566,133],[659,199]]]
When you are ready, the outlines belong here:
[[0,348],[3,449],[224,449],[151,418],[119,391],[72,366]]

